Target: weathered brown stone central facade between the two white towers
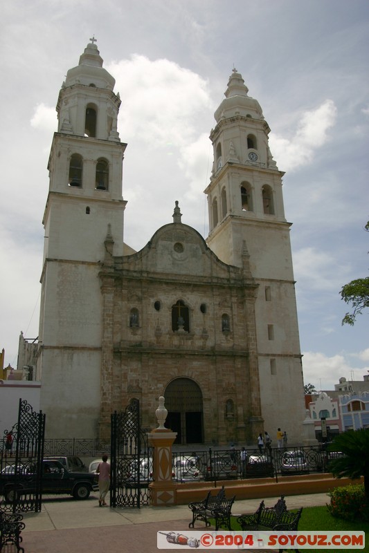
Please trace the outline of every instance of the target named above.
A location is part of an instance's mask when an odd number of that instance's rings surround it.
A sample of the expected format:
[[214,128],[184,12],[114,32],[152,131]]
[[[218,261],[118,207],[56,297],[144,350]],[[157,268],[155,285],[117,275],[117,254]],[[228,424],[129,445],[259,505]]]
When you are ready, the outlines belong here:
[[[198,424],[205,442],[244,442],[260,431],[257,287],[247,273],[219,261],[204,238],[183,223],[161,227],[131,256],[107,252],[100,271],[105,306],[102,389],[109,390],[106,400],[102,398],[102,413],[120,409],[134,393],[141,400],[143,426],[150,427],[157,397],[167,398],[168,383],[185,377],[201,389]],[[172,328],[177,301],[189,311],[188,331]],[[132,310],[138,312],[134,328]],[[222,330],[224,314],[230,321],[228,332]],[[226,416],[230,399],[238,406],[232,419]],[[100,427],[102,433],[109,431],[108,416],[102,416]]]

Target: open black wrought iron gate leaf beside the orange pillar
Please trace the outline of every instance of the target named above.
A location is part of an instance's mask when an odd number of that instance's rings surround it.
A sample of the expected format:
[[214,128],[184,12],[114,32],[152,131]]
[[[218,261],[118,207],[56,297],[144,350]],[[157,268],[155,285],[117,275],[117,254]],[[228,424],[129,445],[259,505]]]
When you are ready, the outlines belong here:
[[152,448],[141,429],[140,402],[133,399],[111,415],[111,507],[149,505],[151,481]]

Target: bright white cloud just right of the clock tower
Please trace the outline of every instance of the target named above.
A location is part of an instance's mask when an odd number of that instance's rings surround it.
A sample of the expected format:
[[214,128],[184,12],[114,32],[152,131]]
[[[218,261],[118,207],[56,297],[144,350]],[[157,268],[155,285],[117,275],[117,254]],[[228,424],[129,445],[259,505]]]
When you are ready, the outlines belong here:
[[337,109],[332,100],[325,100],[315,110],[305,111],[298,123],[298,129],[293,138],[283,138],[271,133],[269,144],[273,157],[278,160],[278,166],[284,171],[292,171],[307,165],[314,151],[329,139],[327,131],[334,126]]

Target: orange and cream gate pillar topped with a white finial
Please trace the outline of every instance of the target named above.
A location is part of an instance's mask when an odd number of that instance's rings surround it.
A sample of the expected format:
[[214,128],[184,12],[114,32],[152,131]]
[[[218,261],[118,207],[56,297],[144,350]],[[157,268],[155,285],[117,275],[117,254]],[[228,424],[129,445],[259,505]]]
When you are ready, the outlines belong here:
[[164,406],[164,397],[159,397],[159,407],[156,409],[156,418],[159,427],[148,433],[149,445],[154,448],[154,482],[150,484],[151,503],[154,507],[176,505],[176,489],[172,482],[172,444],[177,432],[165,428],[165,419],[168,411]]

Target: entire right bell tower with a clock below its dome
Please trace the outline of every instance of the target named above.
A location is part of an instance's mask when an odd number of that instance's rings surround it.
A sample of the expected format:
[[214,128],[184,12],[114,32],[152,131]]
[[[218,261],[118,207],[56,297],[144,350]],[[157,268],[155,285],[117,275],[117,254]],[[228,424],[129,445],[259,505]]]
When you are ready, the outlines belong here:
[[[214,161],[208,198],[209,247],[242,267],[249,259],[258,284],[255,302],[258,370],[264,429],[290,426],[291,409],[305,415],[290,223],[282,176],[271,156],[270,132],[257,100],[233,69],[210,133]],[[286,400],[286,390],[293,391]],[[280,418],[276,420],[276,404]]]

